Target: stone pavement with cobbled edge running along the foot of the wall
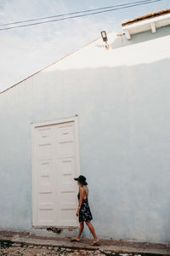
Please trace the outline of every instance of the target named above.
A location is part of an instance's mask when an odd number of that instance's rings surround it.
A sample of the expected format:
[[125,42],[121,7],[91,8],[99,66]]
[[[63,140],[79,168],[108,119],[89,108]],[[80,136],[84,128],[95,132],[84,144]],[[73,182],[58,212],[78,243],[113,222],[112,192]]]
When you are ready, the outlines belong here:
[[30,235],[29,232],[0,231],[0,255],[170,255],[169,243],[151,243],[101,239],[99,245],[90,246],[92,239]]

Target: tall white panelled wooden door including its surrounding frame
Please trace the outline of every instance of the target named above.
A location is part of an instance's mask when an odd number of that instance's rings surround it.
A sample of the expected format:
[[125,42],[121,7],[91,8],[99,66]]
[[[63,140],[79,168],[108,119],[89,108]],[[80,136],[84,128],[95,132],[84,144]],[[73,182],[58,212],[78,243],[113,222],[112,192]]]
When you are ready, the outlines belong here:
[[77,226],[77,119],[32,125],[34,226]]

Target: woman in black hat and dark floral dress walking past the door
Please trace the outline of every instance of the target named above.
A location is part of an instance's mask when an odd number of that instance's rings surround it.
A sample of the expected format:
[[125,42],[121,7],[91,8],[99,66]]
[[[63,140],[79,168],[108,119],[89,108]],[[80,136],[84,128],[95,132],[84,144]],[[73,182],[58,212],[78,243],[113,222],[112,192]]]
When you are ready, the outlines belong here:
[[94,226],[90,223],[93,219],[92,213],[90,211],[90,207],[88,205],[88,183],[86,182],[86,177],[80,175],[79,177],[74,178],[77,181],[79,186],[78,192],[78,209],[77,209],[77,216],[79,218],[79,232],[76,238],[71,239],[71,241],[80,241],[80,237],[82,235],[82,230],[84,228],[84,221],[88,225],[88,229],[91,231],[92,235],[94,236],[94,241],[92,241],[91,245],[96,245],[99,242],[98,237],[95,234]]

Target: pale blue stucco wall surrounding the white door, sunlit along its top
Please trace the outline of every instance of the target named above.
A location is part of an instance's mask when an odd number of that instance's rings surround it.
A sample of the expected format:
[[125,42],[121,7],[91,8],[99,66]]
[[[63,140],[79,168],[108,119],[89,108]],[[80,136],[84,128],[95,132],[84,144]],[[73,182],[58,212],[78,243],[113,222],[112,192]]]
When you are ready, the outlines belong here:
[[[81,172],[88,179],[97,234],[170,240],[168,34],[166,27],[130,42],[116,38],[110,52],[101,46],[108,67],[102,59],[100,67],[53,67],[0,95],[0,229],[31,228],[31,123],[77,114]],[[128,66],[129,44],[139,55]],[[139,59],[142,51],[145,59]],[[83,236],[90,236],[87,227]]]

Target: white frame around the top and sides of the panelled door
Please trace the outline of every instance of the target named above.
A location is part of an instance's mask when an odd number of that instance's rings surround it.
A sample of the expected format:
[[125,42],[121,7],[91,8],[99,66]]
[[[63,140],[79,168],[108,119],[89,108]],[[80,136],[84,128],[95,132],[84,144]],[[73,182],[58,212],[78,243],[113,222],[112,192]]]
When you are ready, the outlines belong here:
[[[35,178],[35,169],[34,169],[34,129],[41,126],[47,126],[47,125],[59,125],[59,124],[65,124],[69,122],[74,122],[75,124],[75,143],[76,143],[76,166],[77,166],[77,172],[76,176],[80,175],[80,150],[79,150],[79,136],[78,136],[78,116],[73,116],[70,118],[65,119],[57,119],[57,120],[51,120],[46,122],[38,122],[38,123],[31,123],[31,226],[35,227],[36,224],[36,178]],[[39,227],[39,226],[37,226]]]

